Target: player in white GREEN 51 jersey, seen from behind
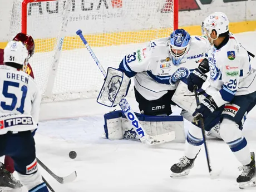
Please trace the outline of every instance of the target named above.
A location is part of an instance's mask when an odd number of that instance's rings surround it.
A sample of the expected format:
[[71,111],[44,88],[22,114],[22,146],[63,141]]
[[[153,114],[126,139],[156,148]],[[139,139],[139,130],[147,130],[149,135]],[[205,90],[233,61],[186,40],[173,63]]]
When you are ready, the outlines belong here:
[[0,66],[0,156],[9,155],[19,179],[29,192],[46,192],[37,170],[35,140],[41,92],[32,77],[22,71],[28,51],[22,42],[11,41],[4,48]]

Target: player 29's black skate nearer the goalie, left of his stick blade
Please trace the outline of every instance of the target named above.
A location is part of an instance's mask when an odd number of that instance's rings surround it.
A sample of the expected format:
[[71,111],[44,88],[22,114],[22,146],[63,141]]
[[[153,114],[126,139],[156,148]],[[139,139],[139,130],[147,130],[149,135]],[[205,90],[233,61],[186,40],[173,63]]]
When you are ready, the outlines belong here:
[[[195,157],[196,158],[196,157]],[[190,169],[194,167],[194,159],[189,159],[186,156],[183,156],[181,159],[179,159],[179,163],[174,164],[171,166],[171,178],[177,178],[179,176],[185,176],[188,175],[190,172]]]

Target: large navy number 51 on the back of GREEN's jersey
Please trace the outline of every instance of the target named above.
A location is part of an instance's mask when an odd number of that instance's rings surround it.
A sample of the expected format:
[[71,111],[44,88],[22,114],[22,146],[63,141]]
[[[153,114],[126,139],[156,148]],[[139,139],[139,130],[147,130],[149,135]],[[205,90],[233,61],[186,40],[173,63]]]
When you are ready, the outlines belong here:
[[[15,109],[16,104],[17,104],[17,96],[14,93],[9,93],[8,92],[8,88],[9,87],[17,87],[19,88],[19,83],[18,82],[12,82],[12,81],[3,81],[3,96],[9,99],[12,99],[12,104],[11,105],[6,105],[5,101],[1,102],[1,107],[3,108],[3,110],[8,110],[8,111],[12,111]],[[21,97],[21,106],[19,106],[16,110],[18,112],[20,112],[21,114],[24,113],[24,102],[27,96],[27,86],[23,85],[21,87],[21,91],[22,91],[22,97]]]

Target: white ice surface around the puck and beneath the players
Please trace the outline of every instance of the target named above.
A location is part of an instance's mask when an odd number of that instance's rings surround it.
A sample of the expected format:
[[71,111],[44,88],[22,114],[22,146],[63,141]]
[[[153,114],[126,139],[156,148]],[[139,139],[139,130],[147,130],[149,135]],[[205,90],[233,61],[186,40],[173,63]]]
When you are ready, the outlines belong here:
[[[256,53],[256,32],[238,34],[237,37],[248,51]],[[256,67],[255,58],[252,67]],[[137,111],[135,99],[127,100]],[[173,179],[169,176],[170,166],[183,156],[184,144],[148,147],[137,141],[101,139],[103,115],[111,110],[97,104],[95,99],[42,105],[42,121],[36,134],[37,157],[59,176],[77,171],[75,181],[58,184],[41,169],[56,192],[240,191],[236,183],[240,164],[223,141],[208,141],[213,170],[223,169],[219,179],[210,179],[204,149],[188,176]],[[180,109],[174,107],[173,111],[179,114]],[[256,152],[256,111],[248,117],[243,132],[250,149]],[[190,122],[185,121],[186,132],[189,126]],[[77,152],[76,159],[68,157],[71,150]]]

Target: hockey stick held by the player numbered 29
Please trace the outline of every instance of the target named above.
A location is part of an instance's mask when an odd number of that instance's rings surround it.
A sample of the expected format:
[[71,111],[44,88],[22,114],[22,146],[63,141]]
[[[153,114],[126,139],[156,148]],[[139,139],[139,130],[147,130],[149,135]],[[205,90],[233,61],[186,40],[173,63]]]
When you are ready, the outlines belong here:
[[[196,85],[194,85],[194,93],[195,93],[196,105],[199,106],[200,105],[200,101],[199,101],[199,97],[198,97],[198,86],[196,86]],[[205,155],[206,155],[206,160],[207,160],[207,165],[208,165],[208,169],[209,169],[210,178],[211,179],[216,179],[216,178],[219,177],[220,172],[213,173],[213,170],[211,169],[209,152],[208,152],[208,147],[207,147],[207,144],[206,144],[206,136],[205,136],[205,128],[204,128],[203,117],[200,116],[199,120],[200,120],[200,126],[201,126],[202,135],[203,135],[204,149],[205,149]]]

